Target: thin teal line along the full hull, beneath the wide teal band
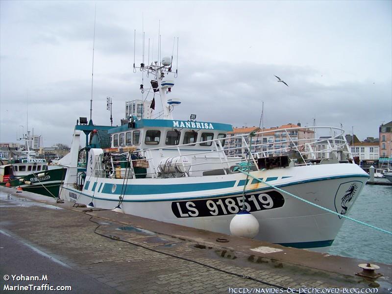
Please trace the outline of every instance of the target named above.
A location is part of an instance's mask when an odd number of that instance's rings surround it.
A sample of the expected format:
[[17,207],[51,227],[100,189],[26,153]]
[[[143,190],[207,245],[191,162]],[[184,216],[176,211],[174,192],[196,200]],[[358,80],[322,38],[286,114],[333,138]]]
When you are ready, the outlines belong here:
[[[338,178],[348,178],[348,177],[366,177],[366,178],[368,178],[369,176],[364,175],[364,174],[352,174],[352,175],[340,175],[340,176],[338,175],[338,176],[325,177],[325,178],[319,178],[319,179],[311,179],[311,180],[305,180],[305,181],[292,182],[292,183],[288,183],[288,184],[281,184],[281,185],[275,185],[275,186],[282,188],[282,187],[294,186],[294,185],[299,185],[299,184],[304,184],[304,183],[318,182],[318,181],[323,181],[323,180],[333,180],[333,179],[338,179]],[[106,185],[108,185],[108,184],[105,184],[104,187]],[[109,185],[112,186],[112,184],[109,184]],[[119,186],[121,187],[121,185],[119,185]],[[141,186],[141,185],[136,185],[136,186]],[[164,186],[164,185],[160,185],[160,186]],[[80,193],[80,191],[78,191],[78,190],[73,190],[73,189],[69,189],[69,188],[65,188],[65,187],[63,187],[63,188],[66,190],[72,191],[74,193],[78,193],[78,194]],[[117,187],[117,189],[118,189],[118,187]],[[263,187],[263,188],[258,188],[258,189],[246,190],[245,193],[255,193],[255,192],[265,191],[265,190],[273,190],[273,188]],[[103,189],[102,189],[102,191],[103,191]],[[104,192],[102,192],[102,193],[104,193]],[[111,193],[111,189],[110,189],[110,193]],[[237,191],[237,192],[233,192],[233,193],[225,193],[225,194],[217,194],[217,195],[175,197],[175,198],[166,198],[166,199],[140,199],[140,200],[123,199],[123,202],[153,202],[153,201],[176,201],[176,200],[190,200],[190,199],[205,199],[205,198],[217,198],[217,197],[238,195],[239,193],[242,193],[242,192]],[[93,198],[93,196],[87,195],[85,193],[80,193],[80,194],[87,196],[87,197],[90,197],[90,198]],[[94,199],[119,202],[119,199],[104,198],[104,197],[97,197],[97,196],[94,196]]]

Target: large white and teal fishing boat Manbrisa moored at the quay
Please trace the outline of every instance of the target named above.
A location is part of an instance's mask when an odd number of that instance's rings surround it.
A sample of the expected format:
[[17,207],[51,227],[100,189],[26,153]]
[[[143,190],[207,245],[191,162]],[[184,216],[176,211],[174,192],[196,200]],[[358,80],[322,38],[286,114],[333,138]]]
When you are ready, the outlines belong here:
[[[154,77],[163,119],[131,117],[116,127],[78,123],[61,162],[68,168],[61,198],[221,233],[230,233],[244,209],[259,223],[255,239],[322,250],[333,243],[343,224],[339,215],[348,213],[368,179],[353,163],[342,129],[283,128],[274,142],[264,140],[270,130],[228,137],[230,124],[198,122],[195,115],[173,119],[179,101],[168,98],[174,82],[166,77],[167,59],[140,70]],[[323,149],[316,132],[329,134]],[[86,148],[79,152],[82,134]],[[239,144],[228,147],[228,141]],[[78,166],[82,154],[86,167]]]

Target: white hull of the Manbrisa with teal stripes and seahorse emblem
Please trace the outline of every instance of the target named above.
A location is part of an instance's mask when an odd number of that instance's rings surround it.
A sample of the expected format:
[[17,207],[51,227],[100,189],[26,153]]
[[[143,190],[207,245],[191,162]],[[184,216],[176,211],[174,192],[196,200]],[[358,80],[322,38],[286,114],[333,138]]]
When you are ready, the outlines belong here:
[[[355,164],[291,167],[251,174],[338,213],[343,211],[343,196],[350,194],[347,191],[352,192],[344,205],[348,211],[368,179],[367,173]],[[126,214],[230,234],[230,221],[241,208],[245,179],[242,173],[170,179],[90,177],[82,191],[64,187],[62,197],[71,203],[93,202],[95,207],[113,209],[122,195],[121,208]],[[270,243],[326,247],[343,224],[340,217],[251,178],[246,185],[246,203],[260,223],[255,239]]]

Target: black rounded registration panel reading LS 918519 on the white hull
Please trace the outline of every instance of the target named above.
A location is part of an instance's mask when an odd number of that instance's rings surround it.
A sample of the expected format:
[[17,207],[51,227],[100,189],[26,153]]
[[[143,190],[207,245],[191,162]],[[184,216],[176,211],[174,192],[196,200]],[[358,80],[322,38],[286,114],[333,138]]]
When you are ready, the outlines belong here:
[[[277,191],[245,196],[249,212],[282,207],[285,200]],[[214,217],[237,214],[243,207],[243,196],[192,201],[173,201],[172,212],[177,218]]]

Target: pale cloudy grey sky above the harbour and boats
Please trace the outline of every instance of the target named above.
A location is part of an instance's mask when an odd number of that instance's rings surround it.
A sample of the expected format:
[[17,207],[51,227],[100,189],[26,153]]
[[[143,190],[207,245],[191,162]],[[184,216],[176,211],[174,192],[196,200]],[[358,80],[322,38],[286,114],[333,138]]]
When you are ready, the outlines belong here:
[[28,128],[70,145],[91,97],[95,124],[110,125],[107,97],[120,124],[125,101],[146,98],[134,50],[138,65],[144,31],[157,60],[159,30],[175,119],[258,126],[264,101],[265,127],[342,124],[361,140],[392,121],[392,1],[1,0],[0,142]]

